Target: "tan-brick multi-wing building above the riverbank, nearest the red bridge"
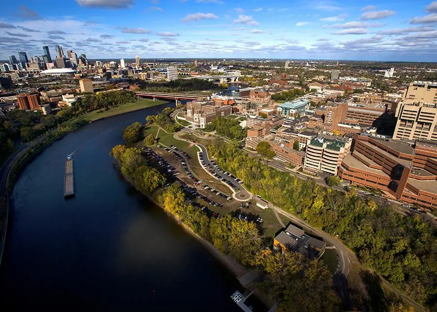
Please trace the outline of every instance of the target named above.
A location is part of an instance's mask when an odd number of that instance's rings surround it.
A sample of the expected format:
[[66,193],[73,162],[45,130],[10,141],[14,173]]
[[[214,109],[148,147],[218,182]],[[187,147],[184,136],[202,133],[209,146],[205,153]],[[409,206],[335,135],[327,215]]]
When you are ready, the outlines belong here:
[[205,128],[205,125],[219,116],[228,116],[232,113],[229,105],[216,106],[214,101],[192,101],[186,104],[185,119]]

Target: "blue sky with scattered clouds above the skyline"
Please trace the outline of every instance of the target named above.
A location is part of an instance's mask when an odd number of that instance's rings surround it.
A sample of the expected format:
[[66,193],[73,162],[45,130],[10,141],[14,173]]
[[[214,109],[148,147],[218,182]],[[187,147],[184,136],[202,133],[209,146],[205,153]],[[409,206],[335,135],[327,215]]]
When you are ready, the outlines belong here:
[[54,45],[89,59],[437,61],[431,0],[17,0],[0,59]]

